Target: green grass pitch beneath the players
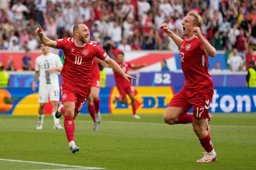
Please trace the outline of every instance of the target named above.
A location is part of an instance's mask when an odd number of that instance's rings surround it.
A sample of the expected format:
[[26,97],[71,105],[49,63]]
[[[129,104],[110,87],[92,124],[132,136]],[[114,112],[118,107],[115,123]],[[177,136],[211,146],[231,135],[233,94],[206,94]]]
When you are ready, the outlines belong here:
[[212,163],[195,162],[202,158],[204,149],[192,124],[167,125],[159,114],[141,117],[136,120],[132,115],[102,115],[100,130],[94,132],[89,115],[78,115],[75,142],[81,151],[72,154],[65,131],[53,129],[51,115],[46,115],[42,130],[36,130],[36,116],[0,116],[0,170],[256,169],[256,114],[213,114],[210,134],[217,162]]

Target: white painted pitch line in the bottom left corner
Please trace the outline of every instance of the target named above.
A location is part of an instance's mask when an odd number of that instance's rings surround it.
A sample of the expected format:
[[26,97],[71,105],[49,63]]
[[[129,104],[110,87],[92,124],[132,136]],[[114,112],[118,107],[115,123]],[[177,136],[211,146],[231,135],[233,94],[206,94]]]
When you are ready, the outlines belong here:
[[65,164],[57,164],[57,163],[47,163],[47,162],[33,162],[33,161],[26,161],[26,160],[15,160],[15,159],[1,159],[3,161],[10,161],[10,162],[22,162],[22,163],[34,163],[34,164],[42,164],[42,165],[52,165],[52,166],[63,166],[63,167],[74,167],[74,168],[81,168],[81,169],[105,169],[105,168],[97,168],[97,167],[86,167],[86,166],[77,166],[77,165],[65,165]]

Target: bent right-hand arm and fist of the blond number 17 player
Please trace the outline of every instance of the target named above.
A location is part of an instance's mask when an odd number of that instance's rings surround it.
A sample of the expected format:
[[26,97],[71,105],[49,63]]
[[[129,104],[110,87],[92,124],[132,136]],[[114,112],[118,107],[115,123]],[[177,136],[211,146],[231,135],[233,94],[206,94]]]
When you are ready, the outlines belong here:
[[203,47],[205,47],[205,52],[207,53],[207,55],[209,55],[211,57],[216,56],[216,49],[213,46],[211,46],[211,44],[202,36],[200,28],[199,27],[194,27],[193,28],[193,33],[202,42]]

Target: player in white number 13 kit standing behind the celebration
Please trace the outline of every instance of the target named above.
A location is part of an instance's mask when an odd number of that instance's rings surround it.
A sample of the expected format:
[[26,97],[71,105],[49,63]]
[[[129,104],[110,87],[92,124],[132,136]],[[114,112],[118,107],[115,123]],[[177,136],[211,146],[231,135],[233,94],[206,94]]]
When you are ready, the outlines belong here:
[[60,57],[57,54],[49,52],[50,47],[41,44],[42,55],[36,58],[35,75],[32,83],[32,90],[36,90],[36,81],[39,74],[39,98],[40,103],[38,109],[38,126],[36,129],[43,128],[43,118],[45,116],[45,104],[48,103],[50,96],[50,102],[52,105],[52,114],[54,120],[53,129],[63,129],[60,125],[60,119],[55,118],[55,111],[57,110],[57,104],[60,99],[60,86],[58,80],[58,72],[62,70],[62,63]]

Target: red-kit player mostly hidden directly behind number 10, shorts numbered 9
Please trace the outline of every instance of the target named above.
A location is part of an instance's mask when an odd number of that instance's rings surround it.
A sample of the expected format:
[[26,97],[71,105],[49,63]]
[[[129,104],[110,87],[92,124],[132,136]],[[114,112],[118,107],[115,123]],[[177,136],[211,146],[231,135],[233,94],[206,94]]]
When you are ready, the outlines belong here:
[[91,86],[90,94],[86,99],[87,109],[93,119],[93,130],[99,130],[100,117],[100,68],[98,60],[95,57],[92,63],[91,70]]

